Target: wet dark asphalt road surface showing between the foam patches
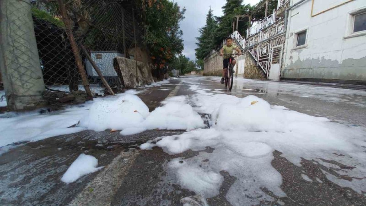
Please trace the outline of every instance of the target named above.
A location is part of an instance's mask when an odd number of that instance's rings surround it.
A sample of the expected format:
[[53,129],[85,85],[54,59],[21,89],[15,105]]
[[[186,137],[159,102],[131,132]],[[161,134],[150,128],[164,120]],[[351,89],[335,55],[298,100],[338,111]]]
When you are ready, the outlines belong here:
[[[217,77],[189,76],[173,79],[170,84],[146,89],[138,96],[150,111],[168,96],[191,95],[190,85],[205,89],[224,89]],[[163,90],[161,90],[163,89]],[[365,90],[350,90],[270,81],[235,81],[231,92],[240,98],[256,95],[273,105],[285,106],[302,113],[327,117],[350,125],[366,126]],[[156,137],[183,131],[149,130],[137,135],[122,136],[119,132],[86,130],[71,135],[26,143],[0,156],[0,205],[183,205],[180,199],[195,195],[180,188],[164,169],[172,158],[190,158],[197,151],[169,155],[161,148],[139,150],[139,144]],[[210,153],[213,148],[207,147]],[[68,166],[85,153],[105,166],[99,172],[83,176],[71,184],[60,181]],[[261,205],[366,205],[366,196],[329,181],[321,170],[335,171],[303,160],[301,167],[273,153],[272,166],[283,177],[281,189],[287,194],[279,198],[262,188],[275,201]],[[342,166],[342,165],[340,165]],[[347,168],[347,165],[343,165]],[[305,181],[301,174],[320,181]],[[209,205],[230,205],[225,195],[235,177],[222,171],[224,182],[220,194],[207,199]],[[342,176],[342,179],[350,177]],[[350,179],[350,181],[352,178]]]

